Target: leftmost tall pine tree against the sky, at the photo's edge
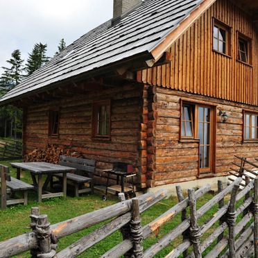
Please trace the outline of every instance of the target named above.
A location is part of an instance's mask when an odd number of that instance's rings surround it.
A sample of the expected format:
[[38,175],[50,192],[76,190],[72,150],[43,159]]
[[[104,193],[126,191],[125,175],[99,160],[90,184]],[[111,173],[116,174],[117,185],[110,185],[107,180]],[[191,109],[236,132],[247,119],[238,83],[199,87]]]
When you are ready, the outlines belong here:
[[21,83],[22,78],[24,77],[24,65],[21,57],[21,51],[16,49],[12,52],[12,57],[6,62],[10,67],[2,67],[3,74],[1,76],[1,87],[6,90],[10,90],[19,83]]

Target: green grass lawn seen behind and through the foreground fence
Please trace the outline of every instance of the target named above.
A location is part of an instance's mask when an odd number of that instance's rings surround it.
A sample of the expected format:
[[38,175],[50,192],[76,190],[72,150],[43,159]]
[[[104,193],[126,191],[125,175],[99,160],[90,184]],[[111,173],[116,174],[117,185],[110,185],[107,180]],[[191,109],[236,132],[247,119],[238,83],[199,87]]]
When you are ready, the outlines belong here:
[[[9,162],[1,162],[1,164],[6,164],[10,166]],[[11,174],[12,176],[15,176],[14,169],[11,169]],[[26,175],[26,173],[22,173],[21,179],[26,182],[31,182],[31,178]],[[197,203],[198,208],[207,203],[207,200],[211,199],[212,197],[212,194],[207,193],[205,196],[203,196],[203,198],[200,198]],[[101,198],[101,193],[96,193],[94,195],[84,195],[80,198],[67,197],[66,200],[64,200],[63,198],[52,198],[44,200],[42,204],[38,205],[35,193],[29,193],[28,206],[15,205],[13,207],[8,207],[4,211],[0,211],[0,241],[30,231],[28,227],[30,223],[29,214],[31,207],[40,207],[41,214],[47,214],[49,216],[49,221],[54,224],[60,221],[65,221],[69,218],[73,218],[75,216],[79,216],[81,214],[85,214],[87,212],[92,212],[96,209],[101,209],[117,202],[117,198],[112,196],[109,196],[106,201],[103,201]],[[155,218],[157,218],[157,216],[160,216],[160,214],[166,212],[167,209],[171,208],[176,203],[176,198],[162,200],[160,203],[157,203],[146,212],[144,212],[144,214],[142,215],[142,223],[146,225],[146,223],[153,221]],[[200,218],[200,225],[203,224],[207,220],[207,218],[212,216],[212,214],[214,214],[217,209],[217,206],[214,207],[209,212],[207,212],[205,216]],[[166,223],[166,225],[161,228],[160,235],[158,237],[152,235],[148,237],[148,239],[144,240],[144,248],[148,248],[149,246],[151,246],[157,241],[157,239],[159,239],[161,236],[164,236],[164,234],[168,233],[174,227],[179,225],[180,221],[181,215],[179,214],[178,216],[175,216],[172,221]],[[216,225],[218,225],[218,223]],[[85,236],[85,234],[96,230],[97,227],[99,227],[99,224],[81,232],[72,234],[71,236],[60,239],[60,241],[58,242],[58,251],[62,250],[66,246],[69,246],[71,243],[74,243],[74,241],[77,241],[81,237]],[[209,230],[209,232],[207,232],[205,236],[209,235],[213,230],[214,227]],[[205,238],[205,236],[203,237]],[[87,250],[87,252],[85,252],[83,255],[80,255],[80,257],[99,257],[104,252],[110,250],[110,248],[117,245],[121,240],[122,238],[120,232],[115,232],[97,245]],[[160,252],[156,257],[164,257],[166,254],[169,253],[170,250],[177,246],[180,241],[182,241],[181,237],[175,239],[175,241],[173,241],[173,243],[171,243],[169,247],[162,250],[162,252]],[[25,253],[24,255],[19,255],[18,257],[30,257],[30,255],[28,255],[28,253]]]

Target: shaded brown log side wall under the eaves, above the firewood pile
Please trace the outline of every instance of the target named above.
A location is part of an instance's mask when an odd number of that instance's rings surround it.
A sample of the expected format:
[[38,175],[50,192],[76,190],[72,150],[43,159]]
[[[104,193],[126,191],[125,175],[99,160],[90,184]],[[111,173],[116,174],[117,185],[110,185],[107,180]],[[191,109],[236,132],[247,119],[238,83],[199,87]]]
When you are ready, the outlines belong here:
[[[111,140],[92,140],[92,102],[111,101]],[[26,153],[46,144],[54,144],[82,153],[85,158],[96,160],[96,172],[112,168],[113,162],[137,164],[139,158],[139,123],[142,119],[143,86],[124,85],[84,95],[47,102],[28,107],[26,117]],[[59,137],[49,137],[49,109],[60,107]],[[144,133],[141,134],[142,139]],[[146,152],[146,150],[143,150]],[[142,153],[141,155],[146,154]],[[146,163],[146,162],[145,162]],[[146,166],[146,164],[145,164]],[[143,180],[143,184],[144,184]]]

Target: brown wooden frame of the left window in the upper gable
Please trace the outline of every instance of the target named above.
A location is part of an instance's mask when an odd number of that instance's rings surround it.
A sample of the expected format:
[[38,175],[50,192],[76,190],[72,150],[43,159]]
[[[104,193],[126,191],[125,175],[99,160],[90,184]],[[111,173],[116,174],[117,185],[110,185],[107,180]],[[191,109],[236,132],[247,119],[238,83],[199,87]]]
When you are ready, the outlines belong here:
[[[226,36],[226,51],[225,53],[214,49],[214,27],[217,27],[218,30],[219,29],[223,29],[223,31],[225,31],[225,36]],[[218,43],[219,43],[219,39]],[[218,44],[219,46],[219,44]],[[227,58],[232,58],[232,27],[229,26],[228,24],[225,24],[224,22],[221,22],[219,19],[216,19],[215,17],[213,17],[213,23],[212,23],[212,51],[214,51],[215,53],[221,54],[221,55],[225,55]]]

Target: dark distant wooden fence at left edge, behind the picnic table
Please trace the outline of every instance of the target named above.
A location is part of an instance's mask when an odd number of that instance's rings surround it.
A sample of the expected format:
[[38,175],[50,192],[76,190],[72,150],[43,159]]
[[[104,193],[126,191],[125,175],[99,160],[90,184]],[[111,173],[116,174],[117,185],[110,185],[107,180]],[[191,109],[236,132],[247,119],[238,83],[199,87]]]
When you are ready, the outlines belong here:
[[22,158],[22,141],[0,139],[0,160],[17,160]]

